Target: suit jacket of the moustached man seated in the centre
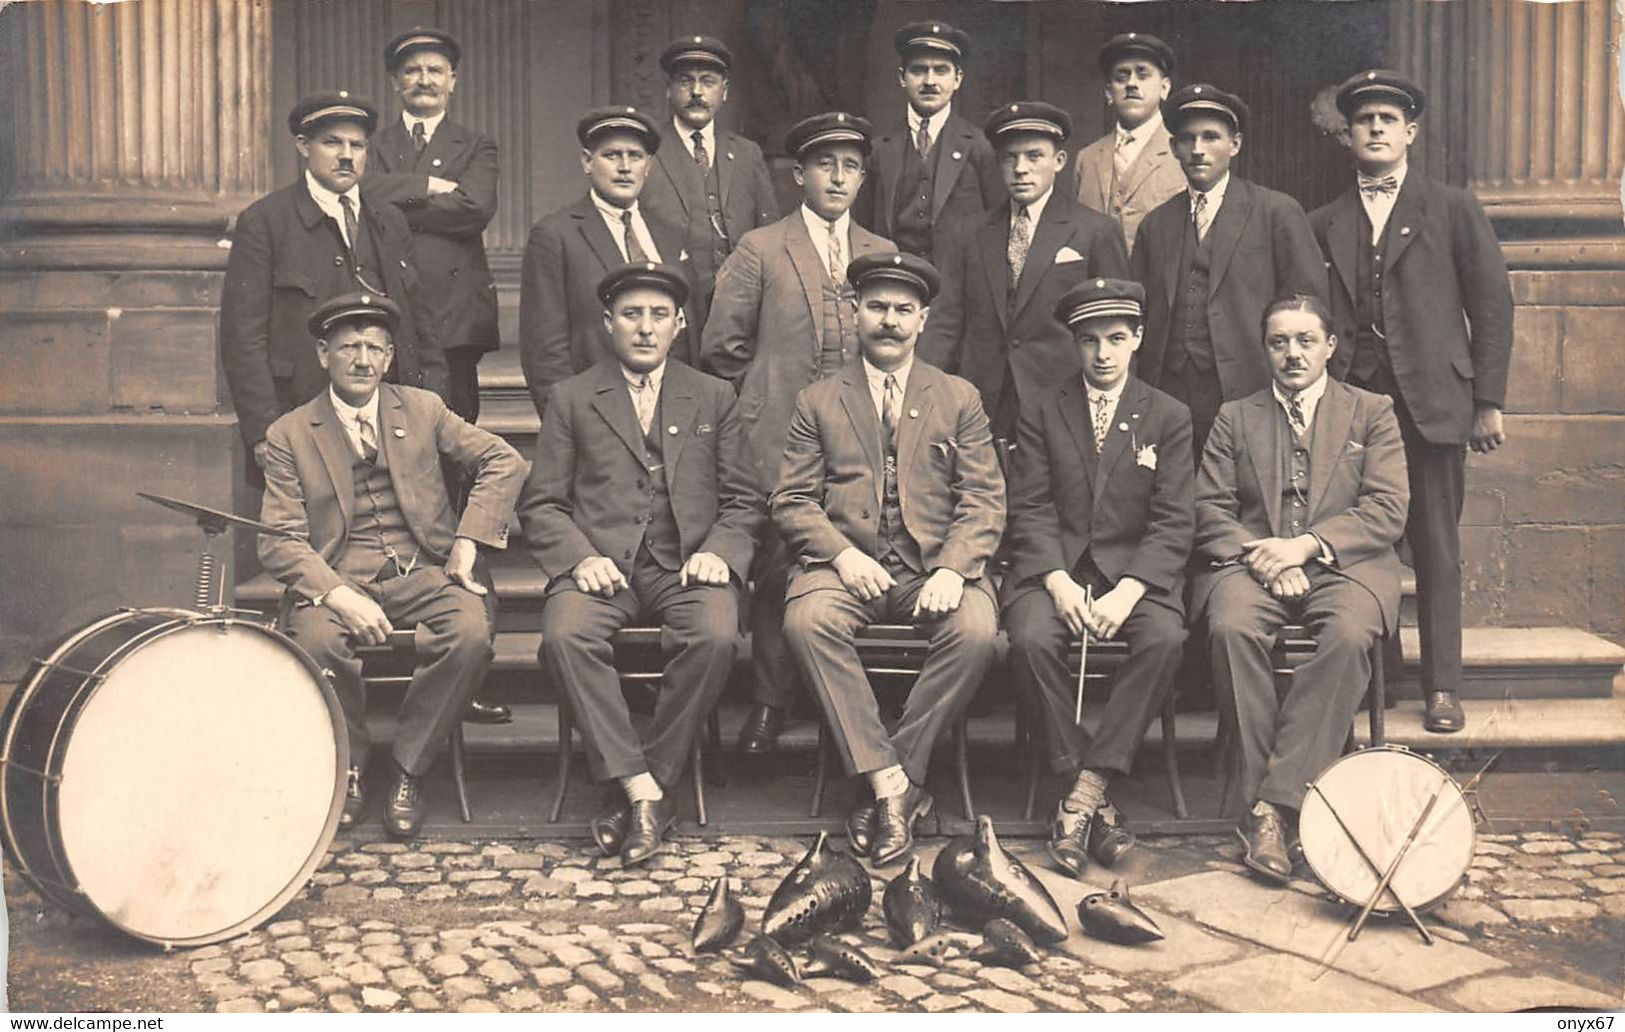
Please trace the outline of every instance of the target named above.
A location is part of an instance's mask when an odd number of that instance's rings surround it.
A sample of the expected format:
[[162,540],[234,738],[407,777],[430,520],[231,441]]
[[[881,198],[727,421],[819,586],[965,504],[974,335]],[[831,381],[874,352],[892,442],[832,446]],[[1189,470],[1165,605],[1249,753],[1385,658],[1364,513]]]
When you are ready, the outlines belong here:
[[[1004,476],[982,400],[965,380],[915,359],[902,413],[904,528],[928,570],[947,567],[980,580],[1004,533]],[[881,419],[861,361],[801,392],[772,497],[774,523],[800,559],[788,598],[840,588],[829,564],[848,546],[879,554],[881,463]]]

